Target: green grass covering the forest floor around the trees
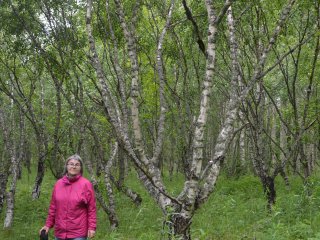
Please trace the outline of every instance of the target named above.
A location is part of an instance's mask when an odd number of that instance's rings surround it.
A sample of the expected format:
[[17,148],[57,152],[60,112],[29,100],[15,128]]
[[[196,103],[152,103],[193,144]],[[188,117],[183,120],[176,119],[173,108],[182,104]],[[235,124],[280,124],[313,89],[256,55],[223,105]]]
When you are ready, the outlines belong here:
[[[44,225],[50,195],[55,180],[47,173],[40,199],[31,199],[33,177],[24,174],[16,193],[14,225],[11,230],[0,228],[0,239],[35,240]],[[181,177],[166,179],[168,191],[178,193]],[[237,239],[320,239],[320,176],[310,179],[307,186],[291,176],[286,187],[281,178],[276,181],[277,203],[271,213],[259,180],[254,176],[228,179],[221,176],[208,202],[199,209],[192,223],[192,237],[199,240]],[[161,239],[163,216],[159,207],[131,174],[127,184],[143,197],[140,207],[134,206],[123,194],[116,192],[120,226],[111,231],[108,217],[99,208],[95,239]],[[4,212],[0,215],[3,225]],[[53,231],[51,231],[51,239]]]

